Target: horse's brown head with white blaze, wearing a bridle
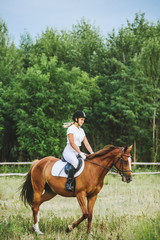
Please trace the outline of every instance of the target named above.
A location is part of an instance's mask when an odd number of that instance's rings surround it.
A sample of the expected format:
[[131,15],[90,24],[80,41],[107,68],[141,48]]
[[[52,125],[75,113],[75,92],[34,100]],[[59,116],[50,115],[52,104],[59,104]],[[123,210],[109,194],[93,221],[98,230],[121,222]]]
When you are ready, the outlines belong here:
[[120,156],[114,162],[114,166],[117,168],[118,173],[122,176],[122,181],[129,183],[132,181],[132,170],[131,170],[131,154],[130,151],[132,149],[132,145],[127,148],[122,148]]

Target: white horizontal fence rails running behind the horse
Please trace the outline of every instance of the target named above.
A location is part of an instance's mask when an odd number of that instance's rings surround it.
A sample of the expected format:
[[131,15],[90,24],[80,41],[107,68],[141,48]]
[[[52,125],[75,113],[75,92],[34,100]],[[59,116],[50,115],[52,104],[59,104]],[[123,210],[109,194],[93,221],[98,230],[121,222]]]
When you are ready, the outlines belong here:
[[[32,164],[32,162],[0,162],[0,165],[28,165]],[[132,165],[160,165],[160,163],[147,163],[147,162],[133,162]],[[109,174],[116,174],[113,172],[109,172]],[[151,174],[160,174],[160,172],[139,172],[139,173],[132,173],[132,175],[151,175]],[[4,176],[26,176],[27,173],[0,173],[0,177]]]

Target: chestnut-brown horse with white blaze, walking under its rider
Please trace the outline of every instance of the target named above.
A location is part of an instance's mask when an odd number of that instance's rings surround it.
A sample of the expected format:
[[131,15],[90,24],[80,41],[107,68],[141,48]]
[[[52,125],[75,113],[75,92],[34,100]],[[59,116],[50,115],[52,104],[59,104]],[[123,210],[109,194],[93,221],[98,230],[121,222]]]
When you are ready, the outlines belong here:
[[71,231],[88,218],[87,232],[89,233],[91,231],[93,207],[108,171],[115,166],[117,173],[122,176],[122,181],[127,183],[132,181],[131,149],[132,146],[121,148],[108,145],[104,149],[88,155],[83,172],[75,179],[75,192],[65,190],[66,178],[51,175],[52,166],[59,159],[45,157],[41,160],[35,160],[21,186],[20,194],[24,203],[32,206],[34,230],[38,234],[42,234],[38,226],[40,205],[59,194],[64,197],[76,197],[83,212],[82,217],[72,225],[68,225],[67,230]]

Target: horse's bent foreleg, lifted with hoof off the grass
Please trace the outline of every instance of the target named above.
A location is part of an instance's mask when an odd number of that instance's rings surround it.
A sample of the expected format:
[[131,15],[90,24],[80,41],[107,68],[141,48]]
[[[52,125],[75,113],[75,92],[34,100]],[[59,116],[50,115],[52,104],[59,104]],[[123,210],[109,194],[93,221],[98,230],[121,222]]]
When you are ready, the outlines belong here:
[[87,210],[87,206],[86,206],[86,193],[81,192],[81,193],[77,194],[76,197],[77,197],[78,203],[82,209],[83,216],[81,218],[79,218],[77,221],[75,221],[72,225],[69,225],[67,227],[67,232],[69,232],[73,228],[77,227],[84,219],[86,219],[88,217],[88,210]]

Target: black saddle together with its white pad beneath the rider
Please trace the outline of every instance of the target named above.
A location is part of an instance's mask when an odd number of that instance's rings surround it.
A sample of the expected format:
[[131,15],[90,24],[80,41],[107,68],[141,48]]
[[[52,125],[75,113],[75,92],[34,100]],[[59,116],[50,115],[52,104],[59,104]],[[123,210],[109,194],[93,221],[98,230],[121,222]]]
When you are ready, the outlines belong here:
[[[84,160],[79,155],[77,156],[77,158],[78,158],[79,163],[78,163],[78,167],[76,168],[74,178],[78,177],[84,169]],[[53,165],[51,174],[52,174],[52,176],[67,178],[70,167],[71,167],[71,164],[68,163],[62,156],[62,158]]]

